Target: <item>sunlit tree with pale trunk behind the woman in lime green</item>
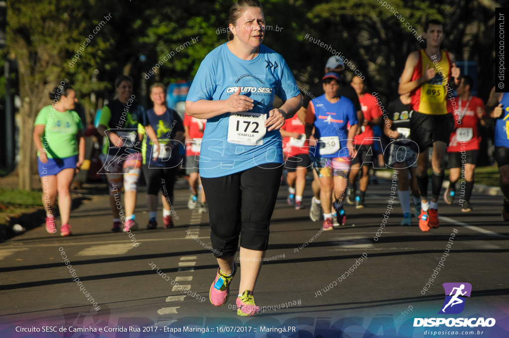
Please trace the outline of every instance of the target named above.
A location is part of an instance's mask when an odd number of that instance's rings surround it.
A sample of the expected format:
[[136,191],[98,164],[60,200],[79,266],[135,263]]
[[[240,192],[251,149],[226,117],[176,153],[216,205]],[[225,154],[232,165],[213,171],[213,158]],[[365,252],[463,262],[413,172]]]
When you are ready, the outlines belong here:
[[90,90],[91,78],[86,74],[102,61],[101,49],[108,45],[106,32],[94,37],[95,44],[81,53],[75,68],[68,66],[68,60],[77,53],[84,37],[100,21],[100,16],[96,15],[99,8],[94,5],[94,2],[71,0],[8,2],[7,45],[19,66],[21,147],[18,173],[21,189],[32,188],[33,123],[41,107],[50,103],[48,93],[61,81],[73,83],[78,94]]

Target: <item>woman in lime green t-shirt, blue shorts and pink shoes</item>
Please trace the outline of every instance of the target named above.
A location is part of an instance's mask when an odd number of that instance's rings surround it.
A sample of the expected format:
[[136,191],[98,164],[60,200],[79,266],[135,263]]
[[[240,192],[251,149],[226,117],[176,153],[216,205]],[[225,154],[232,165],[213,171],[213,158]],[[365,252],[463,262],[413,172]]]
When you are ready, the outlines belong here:
[[77,102],[76,92],[64,81],[49,93],[49,98],[53,103],[39,111],[34,123],[42,202],[46,209],[46,231],[56,233],[53,208],[58,195],[62,220],[60,234],[69,236],[72,202],[69,188],[84,159],[83,125],[77,112],[72,110]]

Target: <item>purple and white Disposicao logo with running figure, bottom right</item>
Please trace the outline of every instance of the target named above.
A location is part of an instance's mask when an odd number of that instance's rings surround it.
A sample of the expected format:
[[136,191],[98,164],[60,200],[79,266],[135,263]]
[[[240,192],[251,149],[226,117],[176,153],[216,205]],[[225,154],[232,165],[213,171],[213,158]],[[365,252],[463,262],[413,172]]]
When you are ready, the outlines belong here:
[[[459,314],[465,309],[465,298],[470,297],[472,285],[470,283],[444,283],[445,300],[438,314]],[[494,318],[414,318],[413,326],[456,326],[456,327],[491,327],[495,325]]]

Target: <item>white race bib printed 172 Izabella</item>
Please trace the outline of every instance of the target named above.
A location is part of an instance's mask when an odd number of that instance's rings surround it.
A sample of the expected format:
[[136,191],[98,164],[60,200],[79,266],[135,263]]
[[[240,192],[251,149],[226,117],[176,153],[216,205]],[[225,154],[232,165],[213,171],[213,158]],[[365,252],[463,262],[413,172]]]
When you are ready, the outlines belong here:
[[263,144],[267,132],[266,114],[257,112],[232,112],[228,123],[228,142],[246,146]]

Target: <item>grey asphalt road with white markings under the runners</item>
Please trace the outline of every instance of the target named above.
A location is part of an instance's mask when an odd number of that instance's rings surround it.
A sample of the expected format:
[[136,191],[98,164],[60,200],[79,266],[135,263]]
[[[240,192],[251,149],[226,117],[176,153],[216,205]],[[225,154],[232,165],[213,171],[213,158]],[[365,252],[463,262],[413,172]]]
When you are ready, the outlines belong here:
[[[445,296],[442,284],[453,282],[470,283],[472,294],[461,315],[449,316],[497,320],[489,335],[463,337],[509,336],[509,231],[499,196],[474,193],[470,213],[441,201],[440,228],[429,233],[421,232],[415,219],[412,227],[399,225],[396,199],[387,226],[380,228],[391,191],[390,181],[380,180],[369,186],[366,208],[346,206],[347,226],[321,232],[321,222],[308,217],[309,185],[303,210],[287,205],[286,186],[281,186],[267,261],[254,292],[257,305],[265,308],[247,319],[233,308],[239,278],[227,304],[210,304],[217,264],[206,248],[208,214],[188,210],[189,191],[185,184],[179,187],[174,229],[144,229],[148,215],[141,188],[136,218],[142,230],[132,233],[134,241],[126,233],[112,234],[107,195],[83,190],[83,202],[71,214],[72,237],[50,235],[41,226],[0,244],[0,336],[205,337],[222,330],[224,336],[259,337],[288,327],[290,333],[268,336],[426,337],[429,328],[413,327],[414,318],[437,317]],[[441,270],[434,272],[437,266]],[[73,272],[79,280],[73,281]],[[67,331],[16,332],[42,326]],[[101,328],[102,333],[70,332],[69,327]],[[117,331],[104,332],[112,327]],[[173,332],[184,328],[209,332]]]

